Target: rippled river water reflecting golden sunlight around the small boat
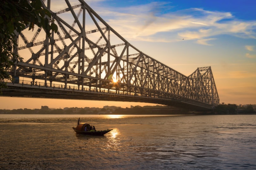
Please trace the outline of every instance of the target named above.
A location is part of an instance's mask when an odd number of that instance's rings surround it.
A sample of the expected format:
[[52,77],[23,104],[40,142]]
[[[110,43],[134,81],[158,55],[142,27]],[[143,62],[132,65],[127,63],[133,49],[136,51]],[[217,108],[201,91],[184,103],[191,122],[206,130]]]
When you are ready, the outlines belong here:
[[[78,117],[104,136],[76,135]],[[0,169],[256,169],[256,115],[0,115]]]

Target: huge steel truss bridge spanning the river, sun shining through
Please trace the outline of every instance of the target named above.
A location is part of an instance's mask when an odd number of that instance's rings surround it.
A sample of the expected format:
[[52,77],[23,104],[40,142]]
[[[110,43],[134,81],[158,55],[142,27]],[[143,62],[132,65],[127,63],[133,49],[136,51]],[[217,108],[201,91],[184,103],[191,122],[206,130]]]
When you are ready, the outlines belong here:
[[[63,2],[64,3],[64,2]],[[211,67],[185,76],[144,54],[87,3],[53,12],[58,32],[41,28],[17,35],[21,58],[9,70],[4,96],[147,102],[211,110],[219,97]],[[71,19],[72,18],[72,19]]]

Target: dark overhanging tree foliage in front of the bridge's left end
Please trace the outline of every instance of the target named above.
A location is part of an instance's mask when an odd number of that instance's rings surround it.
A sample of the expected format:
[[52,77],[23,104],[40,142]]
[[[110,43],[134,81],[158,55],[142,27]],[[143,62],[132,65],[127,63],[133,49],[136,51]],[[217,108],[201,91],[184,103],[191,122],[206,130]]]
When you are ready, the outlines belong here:
[[13,51],[16,36],[27,27],[42,27],[49,36],[58,27],[51,20],[49,10],[43,8],[40,0],[0,0],[0,92],[6,85],[4,79],[10,79],[8,70],[19,58]]

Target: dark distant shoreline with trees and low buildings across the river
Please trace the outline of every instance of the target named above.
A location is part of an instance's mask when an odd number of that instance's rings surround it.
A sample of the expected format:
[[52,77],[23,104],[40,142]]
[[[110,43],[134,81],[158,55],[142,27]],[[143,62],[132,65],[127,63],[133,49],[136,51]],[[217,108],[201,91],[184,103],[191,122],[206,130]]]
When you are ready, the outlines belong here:
[[214,110],[190,110],[189,108],[177,108],[172,106],[131,106],[121,108],[117,106],[104,106],[103,108],[64,108],[55,109],[42,106],[41,109],[0,109],[0,114],[39,114],[39,115],[255,115],[253,105],[240,107],[235,104],[218,105]]

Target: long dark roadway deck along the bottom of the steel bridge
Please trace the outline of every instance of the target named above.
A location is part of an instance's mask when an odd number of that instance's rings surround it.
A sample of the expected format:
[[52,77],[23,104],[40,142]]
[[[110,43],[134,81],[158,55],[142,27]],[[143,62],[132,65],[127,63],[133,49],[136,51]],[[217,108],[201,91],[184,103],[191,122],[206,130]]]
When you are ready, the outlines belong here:
[[103,100],[103,101],[123,101],[123,102],[144,102],[155,103],[159,105],[170,105],[182,107],[192,110],[213,110],[212,105],[190,99],[170,99],[148,97],[143,95],[129,94],[120,91],[101,90],[94,91],[85,89],[47,87],[39,85],[28,85],[20,83],[7,83],[8,88],[2,89],[3,96],[9,97],[32,97],[32,98],[48,98],[48,99],[77,99],[77,100]]

